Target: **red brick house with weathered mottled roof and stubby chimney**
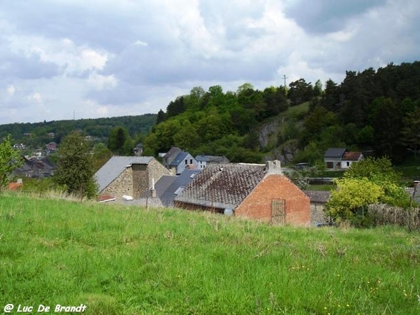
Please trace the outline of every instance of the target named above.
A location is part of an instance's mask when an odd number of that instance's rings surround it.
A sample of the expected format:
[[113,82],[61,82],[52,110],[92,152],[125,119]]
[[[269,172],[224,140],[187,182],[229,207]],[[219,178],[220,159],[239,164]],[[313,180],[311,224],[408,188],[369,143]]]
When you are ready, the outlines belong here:
[[174,205],[280,225],[311,221],[309,197],[283,175],[279,161],[211,163],[175,197]]

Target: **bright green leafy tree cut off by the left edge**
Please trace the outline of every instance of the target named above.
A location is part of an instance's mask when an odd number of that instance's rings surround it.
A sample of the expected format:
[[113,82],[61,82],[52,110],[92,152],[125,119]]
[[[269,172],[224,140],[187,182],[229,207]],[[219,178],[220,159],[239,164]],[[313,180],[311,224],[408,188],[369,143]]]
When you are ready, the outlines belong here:
[[12,147],[10,134],[0,144],[0,191],[10,182],[10,174],[22,165],[22,158]]

